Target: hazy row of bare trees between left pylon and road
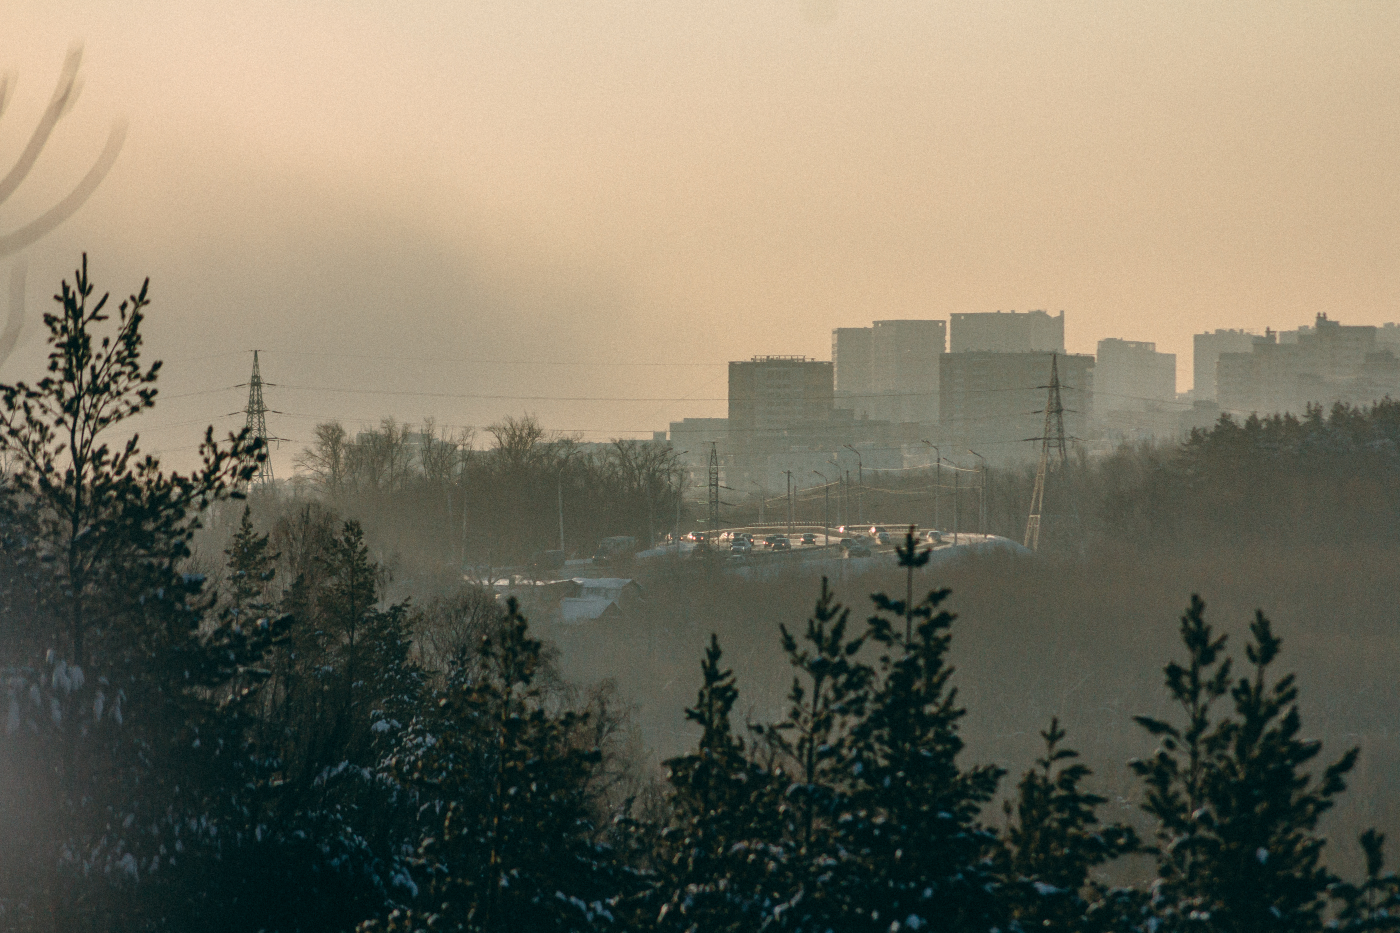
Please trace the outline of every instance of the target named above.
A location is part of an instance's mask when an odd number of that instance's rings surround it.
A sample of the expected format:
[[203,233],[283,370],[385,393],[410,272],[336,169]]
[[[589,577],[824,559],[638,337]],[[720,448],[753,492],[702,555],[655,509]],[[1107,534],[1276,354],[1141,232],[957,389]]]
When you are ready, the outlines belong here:
[[378,541],[416,562],[515,565],[542,551],[591,557],[609,536],[641,547],[669,534],[685,471],[666,442],[584,445],[546,431],[532,414],[475,432],[441,432],[385,418],[351,436],[318,424],[298,457],[300,481],[354,515]]

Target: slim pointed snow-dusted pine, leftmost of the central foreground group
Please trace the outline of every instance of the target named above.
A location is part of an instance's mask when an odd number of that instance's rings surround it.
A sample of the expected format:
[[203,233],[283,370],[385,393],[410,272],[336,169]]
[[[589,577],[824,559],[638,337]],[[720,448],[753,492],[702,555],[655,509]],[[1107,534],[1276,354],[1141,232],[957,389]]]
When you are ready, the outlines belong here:
[[[773,867],[785,860],[778,776],[734,734],[739,698],[721,667],[720,639],[700,662],[701,684],[686,719],[701,729],[696,750],[662,762],[669,824],[657,845],[657,885],[645,904],[658,930],[743,933],[757,929],[785,892]],[[659,904],[659,909],[655,905]]]

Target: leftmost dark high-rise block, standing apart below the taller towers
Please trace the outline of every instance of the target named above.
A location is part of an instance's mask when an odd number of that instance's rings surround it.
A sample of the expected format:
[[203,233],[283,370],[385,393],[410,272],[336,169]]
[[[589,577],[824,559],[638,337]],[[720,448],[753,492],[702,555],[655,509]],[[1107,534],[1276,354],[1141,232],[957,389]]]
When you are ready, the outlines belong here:
[[729,364],[729,438],[759,441],[801,424],[829,421],[834,401],[830,362],[806,357],[753,357]]

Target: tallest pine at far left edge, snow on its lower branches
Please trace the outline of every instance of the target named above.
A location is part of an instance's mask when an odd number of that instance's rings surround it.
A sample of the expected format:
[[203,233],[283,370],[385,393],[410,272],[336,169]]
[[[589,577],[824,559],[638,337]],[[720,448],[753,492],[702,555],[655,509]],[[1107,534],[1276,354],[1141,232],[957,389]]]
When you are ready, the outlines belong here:
[[36,871],[6,878],[0,897],[10,916],[15,881],[25,909],[60,929],[181,926],[207,904],[185,881],[217,857],[245,781],[218,698],[281,634],[269,620],[202,635],[211,599],[186,565],[202,512],[237,497],[259,442],[220,446],[209,429],[189,476],[141,456],[134,436],[108,445],[155,404],[160,362],[140,358],[147,288],[111,311],[84,256],[43,316],[48,375],[0,386],[0,543],[18,571],[6,586],[41,610],[29,636],[3,646],[4,758],[38,765],[25,810],[6,822]]

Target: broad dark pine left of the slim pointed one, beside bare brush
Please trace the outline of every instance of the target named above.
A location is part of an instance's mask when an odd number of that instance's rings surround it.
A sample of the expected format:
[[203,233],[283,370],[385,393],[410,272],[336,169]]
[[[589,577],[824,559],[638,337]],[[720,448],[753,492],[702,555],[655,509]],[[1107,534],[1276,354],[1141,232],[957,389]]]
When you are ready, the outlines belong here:
[[[420,797],[427,897],[444,929],[613,926],[622,873],[599,845],[588,715],[550,708],[542,643],[514,600],[475,664],[458,664],[388,762]],[[424,920],[427,922],[427,919]]]

